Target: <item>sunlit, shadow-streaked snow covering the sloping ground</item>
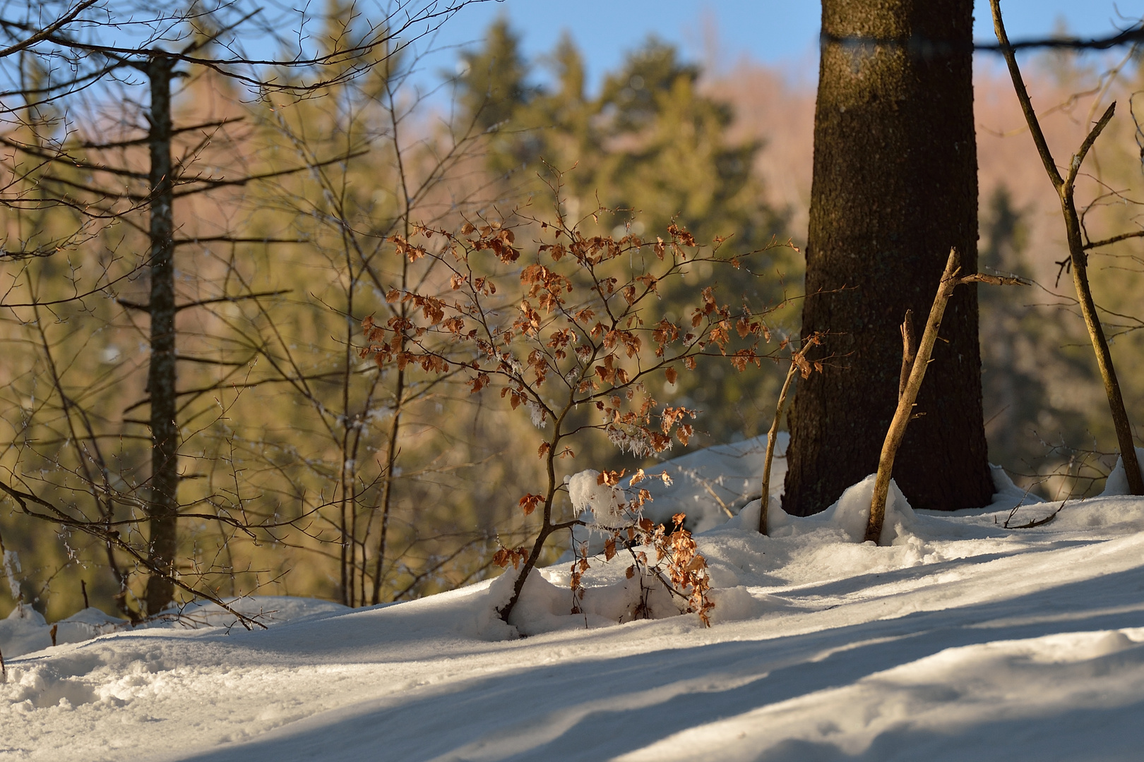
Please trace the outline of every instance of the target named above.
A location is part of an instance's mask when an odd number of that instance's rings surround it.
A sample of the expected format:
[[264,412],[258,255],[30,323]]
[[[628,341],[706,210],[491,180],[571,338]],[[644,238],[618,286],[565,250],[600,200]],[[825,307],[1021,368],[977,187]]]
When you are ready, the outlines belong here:
[[[897,496],[877,547],[857,542],[868,482],[811,519],[772,503],[770,537],[748,505],[698,537],[709,628],[598,612],[586,628],[561,564],[526,586],[515,628],[493,612],[505,578],[356,611],[244,601],[273,611],[265,631],[204,608],[216,626],[6,650],[0,759],[1144,759],[1144,499],[1006,529],[1023,495],[995,475],[986,510]],[[1030,503],[1010,526],[1059,507]],[[626,566],[587,584],[604,600]],[[57,641],[95,634],[80,624]],[[9,618],[0,648],[41,648],[45,627]]]

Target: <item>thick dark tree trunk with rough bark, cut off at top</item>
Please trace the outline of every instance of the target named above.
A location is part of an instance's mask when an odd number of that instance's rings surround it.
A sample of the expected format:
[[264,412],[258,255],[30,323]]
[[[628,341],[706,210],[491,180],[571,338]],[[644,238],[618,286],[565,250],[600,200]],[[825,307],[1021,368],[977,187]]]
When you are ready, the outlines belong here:
[[[782,506],[795,515],[877,468],[906,310],[929,314],[951,247],[976,272],[972,11],[972,0],[823,2],[802,330],[829,331],[834,356],[791,411]],[[976,286],[951,299],[940,338],[893,478],[914,507],[948,511],[993,494]]]

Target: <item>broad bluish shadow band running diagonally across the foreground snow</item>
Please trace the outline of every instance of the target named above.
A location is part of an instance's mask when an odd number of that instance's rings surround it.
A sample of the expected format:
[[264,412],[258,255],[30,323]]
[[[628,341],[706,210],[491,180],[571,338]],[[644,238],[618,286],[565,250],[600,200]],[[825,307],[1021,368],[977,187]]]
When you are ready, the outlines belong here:
[[[199,762],[609,759],[688,728],[848,685],[948,648],[1063,632],[1141,627],[1144,626],[1141,589],[1144,589],[1144,568],[1006,601],[919,611],[796,636],[515,669],[363,701],[313,715],[251,741],[185,759]],[[760,624],[765,626],[765,620]],[[1137,712],[1135,715],[1125,714],[1130,709],[1097,713],[1101,719],[1094,727],[1103,727],[1104,717],[1129,722],[1129,716],[1133,717],[1129,725],[1136,727],[1139,707],[1131,709]],[[1024,727],[1017,721],[991,724],[999,732],[1015,732],[1018,725]],[[1034,724],[1046,738],[1058,739],[1062,735],[1062,725],[1051,717],[1038,719]],[[1082,727],[1085,738],[1091,741],[1089,725]],[[789,741],[758,759],[994,759],[968,752],[951,756],[948,748],[945,757],[929,757],[914,751],[940,744],[959,745],[951,748],[972,745],[977,743],[974,739],[978,728],[966,728],[955,737],[887,731],[858,757],[847,757],[828,744]],[[1067,746],[1056,740],[1046,743],[1055,752]],[[1012,756],[1014,746],[1009,743],[1006,746],[1004,756]],[[1090,751],[1095,754],[1098,749]],[[903,755],[895,756],[899,752]],[[1112,754],[1043,759],[1127,759],[1115,756],[1119,752]]]

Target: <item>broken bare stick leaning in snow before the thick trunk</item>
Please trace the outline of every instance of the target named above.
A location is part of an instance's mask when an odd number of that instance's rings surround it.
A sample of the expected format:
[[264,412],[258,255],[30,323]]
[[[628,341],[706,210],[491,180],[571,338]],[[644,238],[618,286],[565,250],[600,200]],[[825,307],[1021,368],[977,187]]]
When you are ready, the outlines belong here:
[[885,520],[885,497],[890,491],[890,474],[893,471],[893,458],[898,455],[901,440],[906,435],[906,425],[913,417],[914,403],[917,400],[917,392],[922,387],[922,379],[925,377],[925,367],[929,364],[930,355],[934,353],[934,344],[937,342],[937,331],[942,328],[942,316],[945,314],[945,305],[950,303],[953,290],[962,283],[993,283],[994,286],[1017,286],[1024,284],[1019,278],[1001,278],[998,275],[986,275],[974,273],[959,278],[958,250],[950,249],[950,259],[945,263],[945,272],[942,273],[942,281],[938,283],[937,294],[934,296],[934,306],[930,307],[929,319],[925,321],[925,329],[922,331],[921,342],[917,343],[916,353],[909,356],[913,344],[913,315],[906,312],[906,319],[901,323],[901,376],[903,380],[898,386],[898,409],[893,411],[890,420],[890,431],[885,433],[885,441],[882,443],[882,454],[877,459],[877,476],[874,480],[874,496],[869,504],[869,520],[866,523],[866,539],[877,543],[882,536],[882,522]]

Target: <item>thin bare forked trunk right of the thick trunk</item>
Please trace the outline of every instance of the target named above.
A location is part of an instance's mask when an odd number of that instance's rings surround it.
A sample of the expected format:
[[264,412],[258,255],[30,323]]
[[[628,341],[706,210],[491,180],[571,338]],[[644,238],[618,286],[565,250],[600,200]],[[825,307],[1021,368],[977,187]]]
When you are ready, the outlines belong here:
[[1109,398],[1109,409],[1112,414],[1112,425],[1117,432],[1117,446],[1120,450],[1120,459],[1125,465],[1125,476],[1128,480],[1128,489],[1133,495],[1144,495],[1144,479],[1141,476],[1139,463],[1136,460],[1136,447],[1133,441],[1131,424],[1128,420],[1128,411],[1125,409],[1125,400],[1120,393],[1120,383],[1117,380],[1117,370],[1112,364],[1112,352],[1109,350],[1109,342],[1104,336],[1104,328],[1101,326],[1101,318],[1096,312],[1096,303],[1093,300],[1093,289],[1088,282],[1088,255],[1081,239],[1080,217],[1077,215],[1077,204],[1073,200],[1073,189],[1077,182],[1077,174],[1085,162],[1096,138],[1107,126],[1115,112],[1117,104],[1112,103],[1089,131],[1080,150],[1073,154],[1068,165],[1068,174],[1062,177],[1057,165],[1049,151],[1049,144],[1044,139],[1033,103],[1025,89],[1025,80],[1017,66],[1017,57],[1009,45],[1009,37],[1004,31],[1004,23],[1001,19],[1001,6],[999,0],[990,0],[990,8],[993,13],[993,29],[996,32],[998,42],[1001,45],[1001,53],[1004,55],[1006,64],[1009,67],[1009,75],[1012,79],[1012,87],[1020,102],[1020,110],[1028,125],[1028,131],[1033,136],[1033,143],[1041,155],[1041,163],[1044,171],[1056,189],[1060,200],[1060,214],[1065,220],[1065,232],[1068,239],[1068,266],[1072,268],[1073,287],[1077,289],[1077,300],[1080,304],[1081,314],[1085,318],[1085,327],[1088,329],[1089,340],[1093,343],[1093,351],[1096,354],[1096,364],[1101,370],[1101,378],[1104,382],[1104,392]]

